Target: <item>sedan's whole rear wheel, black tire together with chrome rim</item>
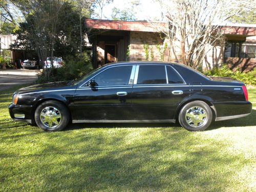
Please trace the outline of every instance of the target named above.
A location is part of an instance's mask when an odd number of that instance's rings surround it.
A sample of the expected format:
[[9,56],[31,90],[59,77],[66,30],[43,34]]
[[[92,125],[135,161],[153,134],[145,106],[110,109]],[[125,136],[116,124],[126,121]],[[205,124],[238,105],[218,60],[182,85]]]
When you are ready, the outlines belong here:
[[185,104],[179,114],[181,126],[188,131],[204,131],[211,121],[211,109],[203,101],[191,101]]

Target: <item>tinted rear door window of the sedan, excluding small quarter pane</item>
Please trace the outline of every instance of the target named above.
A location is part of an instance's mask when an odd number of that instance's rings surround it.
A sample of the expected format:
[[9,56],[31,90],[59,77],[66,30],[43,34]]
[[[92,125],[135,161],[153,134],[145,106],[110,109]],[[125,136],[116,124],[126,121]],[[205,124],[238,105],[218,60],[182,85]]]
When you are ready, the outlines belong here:
[[166,84],[164,66],[140,66],[137,84]]

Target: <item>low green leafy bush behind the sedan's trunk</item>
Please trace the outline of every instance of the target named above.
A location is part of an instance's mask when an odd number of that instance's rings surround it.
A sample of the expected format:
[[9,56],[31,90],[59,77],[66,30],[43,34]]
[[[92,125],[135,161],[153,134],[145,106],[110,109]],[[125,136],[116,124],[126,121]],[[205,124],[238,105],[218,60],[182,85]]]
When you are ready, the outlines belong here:
[[247,85],[256,85],[256,68],[250,72],[241,72],[239,70],[233,72],[227,65],[223,65],[221,68],[214,68],[212,70],[204,72],[207,76],[214,77],[231,77],[240,81],[243,81]]

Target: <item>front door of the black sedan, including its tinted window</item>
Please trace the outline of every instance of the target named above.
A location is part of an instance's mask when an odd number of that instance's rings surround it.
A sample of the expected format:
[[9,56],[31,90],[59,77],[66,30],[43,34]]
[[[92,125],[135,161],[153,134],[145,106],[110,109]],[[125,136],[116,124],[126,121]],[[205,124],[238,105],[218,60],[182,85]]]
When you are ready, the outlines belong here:
[[132,106],[132,87],[136,65],[110,67],[93,78],[97,86],[85,83],[76,90],[74,106],[77,120],[84,122],[127,120]]

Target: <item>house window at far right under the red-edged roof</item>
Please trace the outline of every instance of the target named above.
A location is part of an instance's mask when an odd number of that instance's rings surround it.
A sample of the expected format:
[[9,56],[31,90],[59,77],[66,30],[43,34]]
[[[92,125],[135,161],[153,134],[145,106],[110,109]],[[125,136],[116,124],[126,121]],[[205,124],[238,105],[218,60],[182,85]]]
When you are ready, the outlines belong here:
[[225,57],[256,58],[256,45],[243,44],[242,42],[227,42]]

